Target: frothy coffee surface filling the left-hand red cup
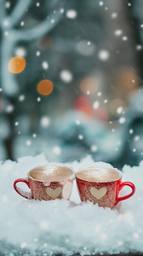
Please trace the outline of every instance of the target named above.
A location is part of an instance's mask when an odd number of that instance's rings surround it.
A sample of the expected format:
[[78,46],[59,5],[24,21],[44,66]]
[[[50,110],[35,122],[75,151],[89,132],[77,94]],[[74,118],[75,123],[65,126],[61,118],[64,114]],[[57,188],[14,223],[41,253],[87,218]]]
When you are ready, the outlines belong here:
[[47,164],[38,166],[29,172],[29,176],[34,180],[60,181],[67,180],[73,175],[72,169],[67,166]]

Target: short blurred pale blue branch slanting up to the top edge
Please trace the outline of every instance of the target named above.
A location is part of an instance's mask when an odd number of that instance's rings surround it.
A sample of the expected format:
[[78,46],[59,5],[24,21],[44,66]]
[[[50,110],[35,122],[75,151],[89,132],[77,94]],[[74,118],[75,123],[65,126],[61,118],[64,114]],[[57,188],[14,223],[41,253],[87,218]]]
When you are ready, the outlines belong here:
[[24,13],[26,13],[26,9],[30,6],[31,0],[18,0],[18,3],[15,5],[10,18],[9,27],[14,27],[19,20],[21,20]]

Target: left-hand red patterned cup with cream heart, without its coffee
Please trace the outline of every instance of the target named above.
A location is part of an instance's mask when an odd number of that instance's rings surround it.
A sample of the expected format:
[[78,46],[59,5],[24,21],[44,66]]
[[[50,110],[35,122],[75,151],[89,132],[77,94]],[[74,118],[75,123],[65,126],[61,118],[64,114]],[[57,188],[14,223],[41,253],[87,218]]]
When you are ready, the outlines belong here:
[[[54,164],[55,166],[56,164]],[[59,166],[59,164],[57,164]],[[64,166],[68,167],[68,166]],[[37,168],[37,167],[36,167]],[[70,167],[68,167],[70,168]],[[73,189],[73,180],[75,179],[75,174],[72,168],[72,175],[66,180],[60,181],[41,181],[33,179],[29,173],[27,178],[17,179],[13,183],[15,191],[26,199],[35,199],[35,200],[52,200],[52,199],[70,199],[70,195]],[[24,182],[27,184],[31,192],[22,191],[22,189],[17,187],[18,182]]]

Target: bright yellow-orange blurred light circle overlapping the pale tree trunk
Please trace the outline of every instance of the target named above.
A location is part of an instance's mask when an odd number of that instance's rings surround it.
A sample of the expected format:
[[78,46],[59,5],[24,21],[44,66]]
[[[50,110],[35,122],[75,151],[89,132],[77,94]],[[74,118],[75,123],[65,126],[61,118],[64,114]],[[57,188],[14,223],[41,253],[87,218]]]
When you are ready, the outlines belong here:
[[8,64],[8,70],[13,74],[21,73],[26,67],[26,61],[21,56],[11,58]]

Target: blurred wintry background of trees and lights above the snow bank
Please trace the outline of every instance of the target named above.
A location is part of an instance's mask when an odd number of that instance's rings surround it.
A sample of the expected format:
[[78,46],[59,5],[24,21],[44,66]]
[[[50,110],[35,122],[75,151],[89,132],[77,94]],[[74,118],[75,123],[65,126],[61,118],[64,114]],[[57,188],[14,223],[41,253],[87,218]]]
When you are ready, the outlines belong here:
[[0,0],[0,160],[139,164],[142,10],[143,0]]

